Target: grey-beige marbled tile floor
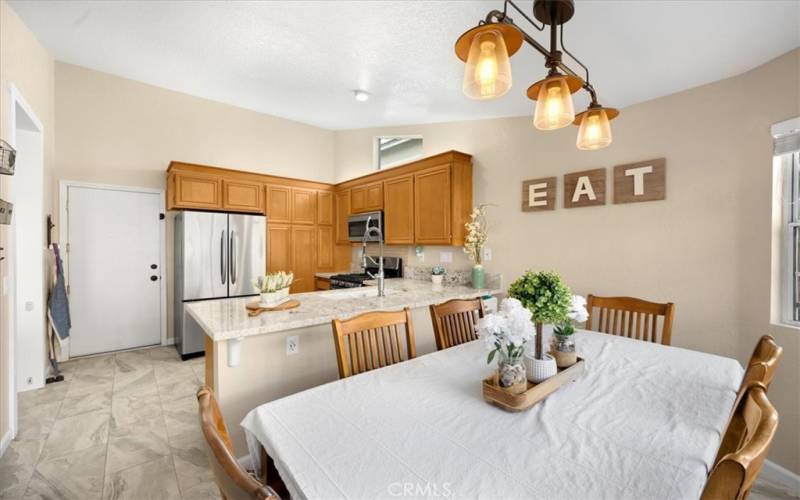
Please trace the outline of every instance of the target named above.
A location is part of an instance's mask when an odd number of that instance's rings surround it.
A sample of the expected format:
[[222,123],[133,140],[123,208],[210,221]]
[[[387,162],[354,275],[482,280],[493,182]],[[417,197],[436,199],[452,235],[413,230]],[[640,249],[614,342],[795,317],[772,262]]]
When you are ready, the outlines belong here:
[[[197,423],[203,370],[173,347],[63,363],[64,382],[19,395],[0,499],[220,498]],[[759,480],[750,498],[800,493]]]

